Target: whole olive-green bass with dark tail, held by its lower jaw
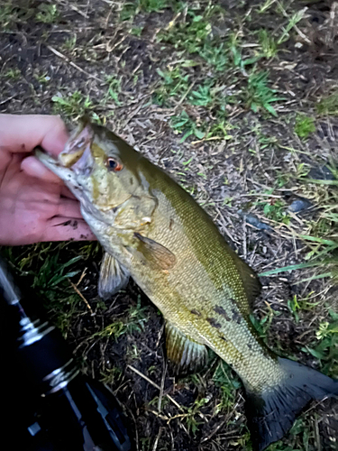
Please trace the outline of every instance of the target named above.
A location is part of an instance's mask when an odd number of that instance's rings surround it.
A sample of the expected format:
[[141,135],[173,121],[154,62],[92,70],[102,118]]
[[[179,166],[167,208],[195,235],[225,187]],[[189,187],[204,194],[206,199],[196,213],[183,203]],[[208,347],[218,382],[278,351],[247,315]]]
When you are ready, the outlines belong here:
[[260,340],[250,318],[259,278],[169,174],[88,120],[57,160],[35,154],[78,198],[105,250],[101,298],[131,277],[164,317],[167,356],[178,372],[201,369],[208,348],[230,364],[244,386],[254,449],[283,437],[309,401],[338,395],[338,381]]

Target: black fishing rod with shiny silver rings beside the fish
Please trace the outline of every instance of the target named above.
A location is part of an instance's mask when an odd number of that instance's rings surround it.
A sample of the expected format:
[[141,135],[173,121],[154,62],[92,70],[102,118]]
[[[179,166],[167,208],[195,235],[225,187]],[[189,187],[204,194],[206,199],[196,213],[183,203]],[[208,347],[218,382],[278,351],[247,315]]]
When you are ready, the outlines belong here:
[[3,260],[0,336],[1,443],[7,437],[8,449],[29,451],[132,450],[113,393],[80,373],[59,330],[34,295],[22,294]]

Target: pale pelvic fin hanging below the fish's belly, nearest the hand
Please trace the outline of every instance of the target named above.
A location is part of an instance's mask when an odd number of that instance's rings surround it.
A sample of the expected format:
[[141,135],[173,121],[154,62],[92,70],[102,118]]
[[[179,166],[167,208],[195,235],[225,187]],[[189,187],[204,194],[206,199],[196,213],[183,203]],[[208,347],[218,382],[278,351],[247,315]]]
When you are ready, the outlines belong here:
[[105,253],[101,263],[98,281],[98,295],[102,299],[109,299],[114,293],[122,290],[129,281],[129,272],[117,260]]

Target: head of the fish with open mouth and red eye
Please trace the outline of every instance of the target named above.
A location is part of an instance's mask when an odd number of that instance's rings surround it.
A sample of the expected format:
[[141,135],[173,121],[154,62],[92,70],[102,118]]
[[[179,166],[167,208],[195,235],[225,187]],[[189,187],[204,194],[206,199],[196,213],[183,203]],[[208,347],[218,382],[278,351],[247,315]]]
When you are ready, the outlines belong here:
[[155,199],[144,176],[150,162],[105,127],[83,120],[58,160],[35,154],[78,198],[89,225],[99,220],[112,226],[119,216],[120,226],[137,228],[151,216]]

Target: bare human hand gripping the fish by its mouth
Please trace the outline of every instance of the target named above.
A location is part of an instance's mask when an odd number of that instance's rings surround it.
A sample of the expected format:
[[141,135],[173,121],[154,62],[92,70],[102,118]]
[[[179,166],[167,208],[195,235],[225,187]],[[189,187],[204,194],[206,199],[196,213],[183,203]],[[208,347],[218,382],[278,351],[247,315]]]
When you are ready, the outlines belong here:
[[78,200],[29,152],[58,155],[68,133],[58,116],[0,115],[0,245],[96,240]]

